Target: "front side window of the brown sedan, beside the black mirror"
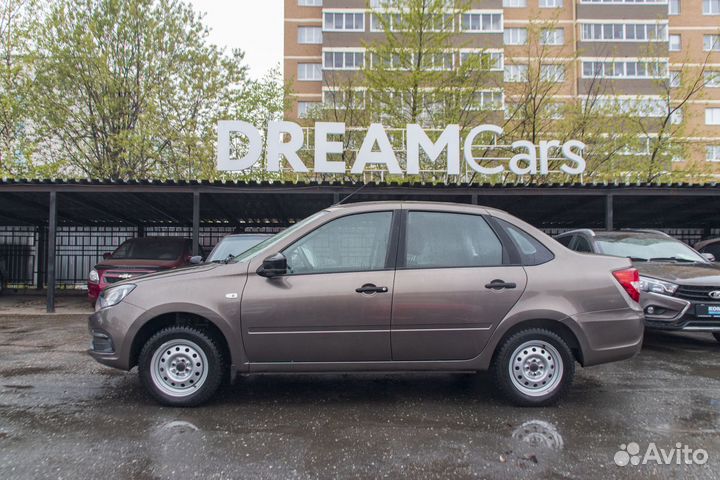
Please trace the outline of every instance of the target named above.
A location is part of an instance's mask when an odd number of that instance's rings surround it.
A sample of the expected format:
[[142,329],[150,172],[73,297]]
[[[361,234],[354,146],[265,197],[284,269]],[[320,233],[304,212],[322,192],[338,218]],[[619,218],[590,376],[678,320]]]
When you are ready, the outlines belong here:
[[392,212],[338,218],[285,249],[288,273],[338,273],[385,268]]

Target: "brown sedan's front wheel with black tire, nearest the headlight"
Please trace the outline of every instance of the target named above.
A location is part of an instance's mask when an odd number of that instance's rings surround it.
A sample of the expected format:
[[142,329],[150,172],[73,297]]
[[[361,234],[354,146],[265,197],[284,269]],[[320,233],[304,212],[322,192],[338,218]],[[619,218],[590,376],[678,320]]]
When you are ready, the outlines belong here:
[[[140,380],[148,393],[163,405],[200,405],[215,394],[225,378],[226,366],[221,352],[216,341],[203,330],[164,328],[150,337],[140,351]],[[165,366],[170,367],[164,369]]]

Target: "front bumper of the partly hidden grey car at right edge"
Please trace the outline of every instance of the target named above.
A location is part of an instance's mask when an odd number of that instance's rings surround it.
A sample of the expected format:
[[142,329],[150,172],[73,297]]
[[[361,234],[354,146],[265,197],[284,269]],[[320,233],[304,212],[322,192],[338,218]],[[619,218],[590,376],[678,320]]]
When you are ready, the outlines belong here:
[[[654,330],[720,332],[720,316],[703,317],[701,305],[720,306],[718,302],[692,302],[668,295],[643,292],[640,299],[645,311],[645,326]],[[652,310],[649,310],[652,308]],[[652,312],[652,313],[651,313]]]

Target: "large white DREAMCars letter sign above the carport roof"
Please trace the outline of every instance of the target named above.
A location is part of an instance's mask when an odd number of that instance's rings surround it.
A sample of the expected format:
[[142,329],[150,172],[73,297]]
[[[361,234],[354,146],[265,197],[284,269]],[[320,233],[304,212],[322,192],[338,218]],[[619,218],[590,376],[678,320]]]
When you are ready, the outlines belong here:
[[[480,165],[482,158],[473,156],[475,138],[483,133],[502,135],[502,128],[497,125],[480,125],[467,134],[463,143],[463,157],[465,162],[474,171],[483,175],[502,173],[505,166],[502,164],[492,167]],[[448,125],[442,131],[437,141],[433,142],[425,131],[416,124],[407,126],[406,149],[407,171],[403,172],[395,156],[390,139],[383,126],[373,123],[367,130],[362,146],[355,157],[350,173],[363,173],[368,165],[384,166],[394,175],[407,173],[414,175],[420,173],[420,150],[423,150],[430,161],[435,162],[444,150],[447,151],[447,173],[460,174],[460,126]],[[242,158],[232,158],[230,151],[230,136],[243,135],[247,139],[246,153]],[[343,153],[343,142],[330,140],[330,135],[344,135],[345,124],[338,122],[315,123],[315,152],[313,171],[316,173],[347,173],[345,162],[331,160],[331,154]],[[310,170],[298,156],[303,148],[305,136],[302,127],[297,123],[276,121],[270,122],[267,128],[267,171],[279,172],[280,162],[283,158],[288,162],[294,172],[307,173]],[[285,139],[285,141],[283,140]],[[377,145],[377,148],[375,146]],[[261,157],[263,137],[260,131],[247,122],[221,120],[218,122],[217,166],[221,171],[241,171],[251,168]],[[493,148],[493,147],[489,147]],[[560,144],[558,140],[541,141],[535,145],[527,140],[518,140],[510,145],[513,151],[519,151],[509,159],[508,168],[517,175],[548,173],[548,162],[551,149],[560,149],[565,162],[560,170],[568,175],[580,175],[585,171],[585,159],[582,152],[585,144],[578,140],[570,140]]]

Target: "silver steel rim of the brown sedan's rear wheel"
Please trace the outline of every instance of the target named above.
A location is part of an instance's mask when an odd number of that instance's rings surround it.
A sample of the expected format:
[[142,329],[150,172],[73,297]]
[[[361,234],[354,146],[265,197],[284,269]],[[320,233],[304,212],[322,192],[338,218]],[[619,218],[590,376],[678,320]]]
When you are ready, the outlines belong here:
[[560,352],[547,342],[530,340],[515,349],[508,365],[513,386],[530,397],[554,391],[563,375]]

